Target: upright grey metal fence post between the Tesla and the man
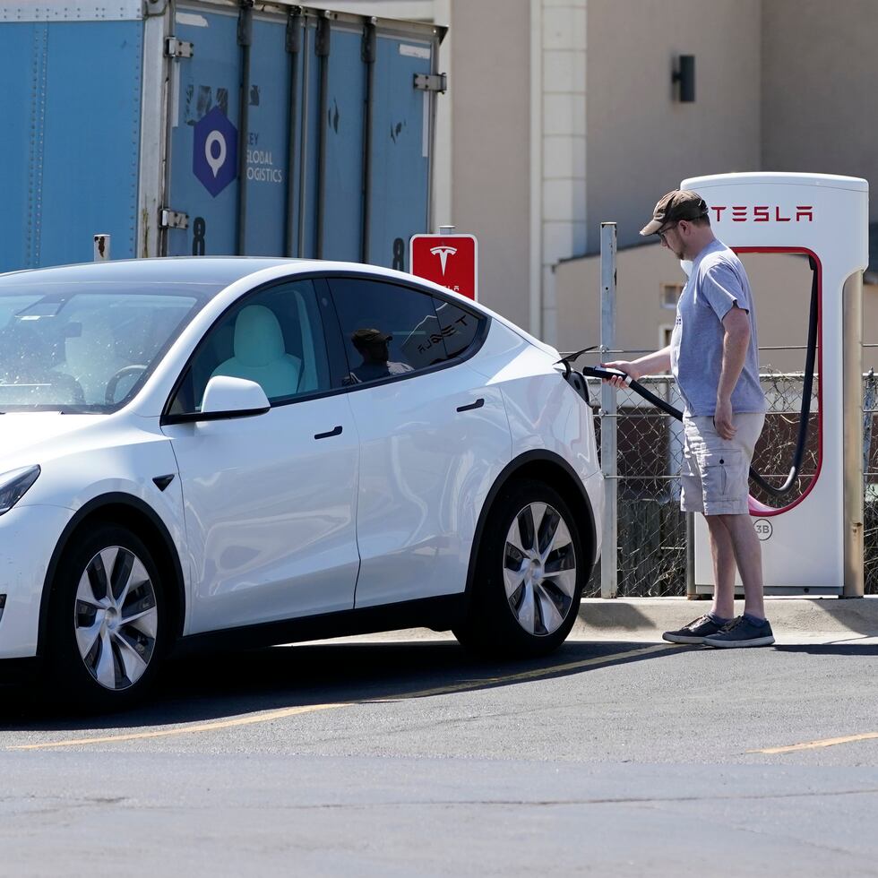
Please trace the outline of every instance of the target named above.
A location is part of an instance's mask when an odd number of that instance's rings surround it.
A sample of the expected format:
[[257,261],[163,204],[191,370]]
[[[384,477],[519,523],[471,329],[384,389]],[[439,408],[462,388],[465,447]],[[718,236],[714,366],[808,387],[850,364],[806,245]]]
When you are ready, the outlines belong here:
[[[600,224],[600,350],[615,349],[615,222]],[[600,469],[604,473],[603,548],[600,553],[600,597],[618,592],[618,469],[616,467],[615,388],[600,385]]]

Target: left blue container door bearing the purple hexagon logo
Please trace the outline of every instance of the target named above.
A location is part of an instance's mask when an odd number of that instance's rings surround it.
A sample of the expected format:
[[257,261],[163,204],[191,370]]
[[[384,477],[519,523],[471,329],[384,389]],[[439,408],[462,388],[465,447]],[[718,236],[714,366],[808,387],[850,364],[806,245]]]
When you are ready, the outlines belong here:
[[178,8],[176,37],[194,48],[172,65],[169,203],[189,219],[168,229],[168,255],[297,254],[289,204],[301,148],[294,140],[292,164],[288,148],[290,108],[302,108],[302,21]]

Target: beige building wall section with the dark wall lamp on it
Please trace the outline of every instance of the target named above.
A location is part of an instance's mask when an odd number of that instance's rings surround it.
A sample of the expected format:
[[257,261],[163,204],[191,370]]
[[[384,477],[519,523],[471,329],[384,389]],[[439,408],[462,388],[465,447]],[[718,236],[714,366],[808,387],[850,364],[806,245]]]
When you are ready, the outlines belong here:
[[[825,2],[825,0],[820,0]],[[588,251],[619,245],[687,176],[760,170],[762,0],[588,0]],[[695,56],[695,102],[672,65]],[[563,321],[562,321],[563,322]]]

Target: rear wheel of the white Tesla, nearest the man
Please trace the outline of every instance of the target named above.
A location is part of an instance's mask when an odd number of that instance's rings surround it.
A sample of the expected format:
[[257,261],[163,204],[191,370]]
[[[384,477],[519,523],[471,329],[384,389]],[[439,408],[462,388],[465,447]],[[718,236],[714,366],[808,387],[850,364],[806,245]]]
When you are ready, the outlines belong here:
[[464,620],[453,629],[481,656],[547,655],[576,621],[586,580],[580,529],[551,486],[517,479],[492,504]]

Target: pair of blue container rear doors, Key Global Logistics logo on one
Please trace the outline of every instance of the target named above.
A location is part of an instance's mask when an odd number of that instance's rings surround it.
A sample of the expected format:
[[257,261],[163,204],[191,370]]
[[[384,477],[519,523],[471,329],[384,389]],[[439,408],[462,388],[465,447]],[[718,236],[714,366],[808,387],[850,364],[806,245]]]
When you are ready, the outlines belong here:
[[409,237],[428,227],[435,99],[415,75],[431,72],[435,41],[184,6],[175,29],[194,51],[171,65],[168,205],[189,219],[168,229],[167,254],[408,269]]

